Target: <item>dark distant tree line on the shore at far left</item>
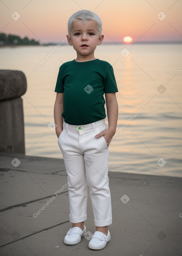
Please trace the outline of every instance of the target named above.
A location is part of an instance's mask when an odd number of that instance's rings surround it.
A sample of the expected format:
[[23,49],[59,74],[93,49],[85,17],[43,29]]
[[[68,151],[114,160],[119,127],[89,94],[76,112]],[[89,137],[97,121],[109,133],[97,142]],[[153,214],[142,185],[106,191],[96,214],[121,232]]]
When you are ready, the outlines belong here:
[[28,37],[21,39],[20,36],[0,33],[0,45],[39,45],[39,42]]

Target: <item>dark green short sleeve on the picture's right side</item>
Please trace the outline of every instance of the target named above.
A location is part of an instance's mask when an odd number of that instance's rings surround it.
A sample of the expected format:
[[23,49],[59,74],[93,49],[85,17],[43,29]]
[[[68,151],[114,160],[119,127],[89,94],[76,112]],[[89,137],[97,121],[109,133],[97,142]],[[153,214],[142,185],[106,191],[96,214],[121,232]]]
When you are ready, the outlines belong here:
[[118,92],[113,67],[111,65],[106,73],[105,82],[104,82],[104,92],[105,93]]

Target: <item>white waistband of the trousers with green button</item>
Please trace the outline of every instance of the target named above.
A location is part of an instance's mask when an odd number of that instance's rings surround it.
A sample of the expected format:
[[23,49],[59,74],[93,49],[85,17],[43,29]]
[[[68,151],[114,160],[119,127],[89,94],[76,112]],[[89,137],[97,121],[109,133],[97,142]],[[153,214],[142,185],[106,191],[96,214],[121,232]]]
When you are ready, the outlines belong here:
[[67,133],[68,133],[68,130],[81,132],[81,131],[93,129],[93,131],[96,131],[97,127],[102,126],[104,124],[106,124],[105,119],[99,120],[97,122],[93,122],[91,124],[80,125],[80,126],[79,125],[69,125],[65,121],[63,121],[63,128],[66,129]]

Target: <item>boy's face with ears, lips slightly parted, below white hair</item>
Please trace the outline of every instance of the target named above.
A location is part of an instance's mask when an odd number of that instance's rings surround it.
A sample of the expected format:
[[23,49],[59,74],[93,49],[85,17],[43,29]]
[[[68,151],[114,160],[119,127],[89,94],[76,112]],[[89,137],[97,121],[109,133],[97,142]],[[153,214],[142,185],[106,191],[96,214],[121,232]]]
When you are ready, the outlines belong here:
[[[99,37],[97,23],[93,20],[87,20],[82,24],[82,20],[72,23],[70,38],[68,42],[73,45],[77,55],[92,55],[103,40],[103,35]],[[84,46],[85,45],[85,46]]]

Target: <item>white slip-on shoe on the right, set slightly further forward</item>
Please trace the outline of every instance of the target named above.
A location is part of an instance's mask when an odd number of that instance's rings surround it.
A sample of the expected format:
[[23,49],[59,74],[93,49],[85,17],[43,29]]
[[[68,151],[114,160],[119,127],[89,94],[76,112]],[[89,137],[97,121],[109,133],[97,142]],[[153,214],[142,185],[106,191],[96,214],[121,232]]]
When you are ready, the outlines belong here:
[[90,239],[89,248],[92,250],[101,250],[107,245],[107,242],[109,242],[110,240],[111,235],[109,230],[107,236],[100,231],[95,231]]

